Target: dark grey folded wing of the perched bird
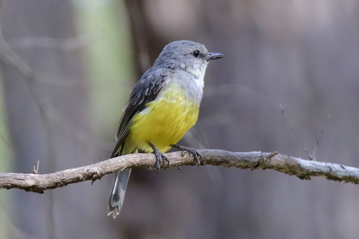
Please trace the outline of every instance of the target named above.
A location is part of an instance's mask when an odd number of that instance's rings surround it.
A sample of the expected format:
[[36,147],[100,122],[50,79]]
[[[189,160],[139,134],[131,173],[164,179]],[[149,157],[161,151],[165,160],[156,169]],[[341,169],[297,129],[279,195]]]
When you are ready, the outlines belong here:
[[129,134],[129,129],[134,116],[153,101],[162,86],[171,78],[173,71],[167,68],[150,68],[137,82],[127,101],[125,110],[118,122],[116,130],[116,145],[110,158],[122,155],[121,146]]

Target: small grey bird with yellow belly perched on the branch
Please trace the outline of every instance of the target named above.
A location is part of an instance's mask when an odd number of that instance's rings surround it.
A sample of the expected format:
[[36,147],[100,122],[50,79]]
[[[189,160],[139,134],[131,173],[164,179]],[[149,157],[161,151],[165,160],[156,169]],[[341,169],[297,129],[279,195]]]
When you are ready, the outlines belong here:
[[[158,173],[171,147],[192,154],[196,149],[176,143],[196,124],[202,100],[204,75],[209,61],[223,54],[208,52],[200,43],[178,40],[168,43],[136,83],[116,130],[116,144],[110,158],[125,154],[154,153]],[[107,214],[120,213],[131,168],[115,172]]]

